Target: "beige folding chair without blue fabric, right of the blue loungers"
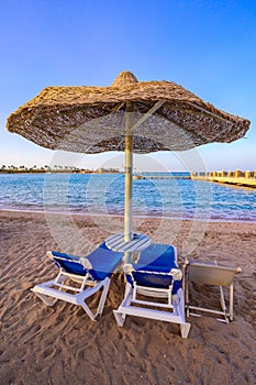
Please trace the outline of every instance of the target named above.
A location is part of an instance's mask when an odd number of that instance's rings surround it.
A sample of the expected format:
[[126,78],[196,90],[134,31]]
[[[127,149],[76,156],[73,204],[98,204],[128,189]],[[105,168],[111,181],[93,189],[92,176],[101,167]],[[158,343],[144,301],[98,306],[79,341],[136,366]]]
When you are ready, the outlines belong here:
[[[187,317],[194,316],[201,317],[201,314],[191,312],[190,310],[196,310],[199,312],[209,312],[214,315],[221,315],[223,318],[218,318],[219,321],[229,323],[233,320],[234,310],[233,310],[233,300],[234,300],[234,276],[237,273],[242,272],[241,267],[226,267],[220,266],[214,263],[204,263],[198,261],[186,261],[183,266],[185,268],[185,293],[186,293],[186,312]],[[209,309],[199,306],[190,305],[190,282],[201,284],[201,285],[211,285],[219,286],[220,288],[220,305],[222,310]],[[225,304],[223,287],[230,288],[230,304],[229,308]]]

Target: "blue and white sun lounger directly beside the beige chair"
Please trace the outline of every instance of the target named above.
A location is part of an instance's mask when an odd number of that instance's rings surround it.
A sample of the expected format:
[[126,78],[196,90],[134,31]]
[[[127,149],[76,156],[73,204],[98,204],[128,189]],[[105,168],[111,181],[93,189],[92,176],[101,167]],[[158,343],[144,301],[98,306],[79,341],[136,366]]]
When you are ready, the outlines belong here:
[[182,273],[176,248],[152,244],[141,252],[136,264],[126,264],[123,270],[126,286],[124,299],[114,310],[118,324],[122,327],[126,316],[174,322],[180,324],[181,336],[187,338],[190,323],[185,319]]

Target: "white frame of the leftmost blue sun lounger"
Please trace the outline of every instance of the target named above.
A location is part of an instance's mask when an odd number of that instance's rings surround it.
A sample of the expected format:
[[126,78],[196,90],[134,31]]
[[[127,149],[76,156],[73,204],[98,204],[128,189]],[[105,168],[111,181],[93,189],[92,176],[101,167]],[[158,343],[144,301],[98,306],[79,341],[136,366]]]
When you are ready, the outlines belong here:
[[[71,286],[71,284],[65,285],[67,279],[69,279],[70,283],[76,282],[80,284],[80,287]],[[96,317],[103,311],[109,286],[109,277],[105,277],[103,280],[92,280],[89,273],[82,276],[67,273],[60,268],[59,274],[55,279],[34,286],[32,292],[34,292],[47,306],[53,306],[58,299],[81,306],[90,319],[96,321]],[[96,314],[92,314],[86,304],[86,299],[94,295],[101,288],[102,293],[97,311]]]

